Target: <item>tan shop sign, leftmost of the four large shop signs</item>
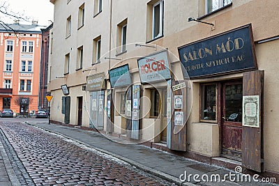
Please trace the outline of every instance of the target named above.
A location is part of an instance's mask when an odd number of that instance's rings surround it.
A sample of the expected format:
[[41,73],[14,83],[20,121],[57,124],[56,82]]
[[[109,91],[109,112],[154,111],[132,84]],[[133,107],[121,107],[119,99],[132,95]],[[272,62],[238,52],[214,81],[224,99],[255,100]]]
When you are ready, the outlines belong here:
[[105,72],[87,77],[87,91],[100,91],[105,89]]

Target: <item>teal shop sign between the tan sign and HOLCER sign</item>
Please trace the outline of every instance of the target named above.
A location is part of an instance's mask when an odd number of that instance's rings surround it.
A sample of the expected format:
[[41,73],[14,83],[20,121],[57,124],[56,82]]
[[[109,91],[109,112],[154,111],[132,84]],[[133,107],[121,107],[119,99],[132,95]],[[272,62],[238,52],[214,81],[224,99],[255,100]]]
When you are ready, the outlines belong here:
[[117,86],[128,86],[132,84],[128,64],[109,70],[109,75],[110,85],[112,88]]

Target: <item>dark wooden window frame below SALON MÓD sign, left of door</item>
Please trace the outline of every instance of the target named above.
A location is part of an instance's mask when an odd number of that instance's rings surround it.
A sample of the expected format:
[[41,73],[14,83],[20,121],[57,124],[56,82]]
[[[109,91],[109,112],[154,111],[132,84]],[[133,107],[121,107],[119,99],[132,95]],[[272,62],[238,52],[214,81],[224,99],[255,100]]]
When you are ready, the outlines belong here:
[[[204,105],[204,93],[203,93],[203,86],[211,86],[211,85],[215,85],[216,88],[216,120],[205,120],[202,119],[202,111],[203,111],[203,105]],[[218,123],[218,113],[219,113],[219,109],[218,109],[218,103],[219,103],[219,99],[218,99],[218,95],[219,95],[219,84],[218,82],[210,82],[210,83],[204,83],[204,84],[199,84],[199,121],[200,122],[205,122],[205,123]]]

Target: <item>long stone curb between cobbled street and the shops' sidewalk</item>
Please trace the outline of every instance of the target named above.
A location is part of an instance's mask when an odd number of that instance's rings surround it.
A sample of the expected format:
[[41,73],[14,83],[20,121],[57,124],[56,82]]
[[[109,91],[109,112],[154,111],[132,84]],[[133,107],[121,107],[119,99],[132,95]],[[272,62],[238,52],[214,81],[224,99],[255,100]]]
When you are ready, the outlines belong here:
[[[172,176],[172,175],[169,175],[169,174],[167,174],[167,173],[164,173],[164,172],[162,172],[162,171],[157,171],[157,170],[155,170],[155,169],[150,168],[149,166],[145,166],[145,165],[143,165],[143,164],[140,164],[140,163],[138,163],[138,162],[135,162],[134,160],[130,160],[130,159],[128,159],[128,158],[126,158],[126,157],[123,157],[123,156],[121,156],[121,155],[116,155],[115,153],[111,153],[111,152],[109,152],[109,151],[107,151],[107,150],[104,150],[104,149],[102,149],[102,148],[98,148],[98,147],[96,147],[96,146],[91,146],[91,145],[89,145],[89,144],[86,144],[86,143],[84,143],[84,142],[82,142],[82,141],[79,141],[79,140],[77,140],[77,139],[74,139],[74,138],[72,138],[72,137],[68,137],[68,136],[65,135],[65,134],[61,134],[61,133],[59,133],[59,132],[55,132],[55,131],[52,131],[52,130],[48,130],[48,129],[44,128],[44,127],[40,127],[40,126],[38,126],[38,125],[34,125],[33,123],[28,123],[28,122],[25,122],[25,123],[27,123],[27,124],[29,124],[29,125],[32,125],[32,126],[34,126],[34,127],[39,127],[40,129],[46,130],[47,132],[50,132],[50,133],[59,134],[59,135],[61,135],[62,137],[66,137],[66,138],[68,138],[68,139],[71,139],[71,140],[73,140],[73,141],[76,141],[76,142],[79,143],[79,144],[82,144],[82,145],[84,145],[84,146],[88,146],[89,148],[94,148],[94,149],[100,151],[101,153],[105,153],[105,154],[107,154],[107,155],[112,155],[113,157],[116,157],[116,158],[118,158],[119,160],[122,160],[122,161],[124,161],[124,162],[127,162],[128,164],[131,164],[132,166],[137,167],[137,169],[140,169],[140,170],[145,171],[145,172],[147,172],[147,173],[151,173],[151,174],[154,175],[154,176],[157,176],[157,177],[159,177],[159,178],[163,178],[164,180],[167,180],[167,181],[169,181],[169,182],[175,183],[176,185],[182,185],[182,184],[183,184],[183,183],[179,180],[179,178],[176,178],[176,177],[174,177],[174,176]],[[54,124],[52,124],[52,125],[54,125]]]

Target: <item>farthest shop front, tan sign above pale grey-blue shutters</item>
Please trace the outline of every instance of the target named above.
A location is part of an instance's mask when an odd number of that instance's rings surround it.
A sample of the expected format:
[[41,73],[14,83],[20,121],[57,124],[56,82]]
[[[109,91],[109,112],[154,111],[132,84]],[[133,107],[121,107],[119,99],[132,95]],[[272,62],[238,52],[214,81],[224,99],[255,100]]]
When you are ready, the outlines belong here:
[[104,130],[105,72],[87,77],[86,91],[90,92],[89,127]]

